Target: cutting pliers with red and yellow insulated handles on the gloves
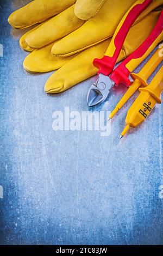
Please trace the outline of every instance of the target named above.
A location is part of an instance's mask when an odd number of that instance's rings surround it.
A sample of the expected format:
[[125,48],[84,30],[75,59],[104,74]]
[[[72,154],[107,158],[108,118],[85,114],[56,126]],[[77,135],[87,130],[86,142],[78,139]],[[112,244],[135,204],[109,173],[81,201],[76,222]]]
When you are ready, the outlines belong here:
[[139,17],[152,2],[153,0],[136,1],[118,25],[105,56],[102,59],[93,60],[93,65],[99,69],[99,78],[96,83],[92,84],[87,94],[87,104],[90,107],[103,102],[109,95],[111,87],[118,86],[120,83],[129,87],[131,84],[129,79],[131,72],[133,72],[149,53],[153,51],[156,45],[163,40],[162,10],[159,20],[148,38],[114,70],[129,29],[136,21],[137,17]]

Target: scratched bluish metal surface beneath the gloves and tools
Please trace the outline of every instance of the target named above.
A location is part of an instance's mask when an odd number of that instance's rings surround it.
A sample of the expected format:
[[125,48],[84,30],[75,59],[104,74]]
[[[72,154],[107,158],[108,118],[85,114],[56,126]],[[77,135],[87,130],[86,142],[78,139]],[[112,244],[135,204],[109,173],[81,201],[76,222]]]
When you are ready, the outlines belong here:
[[[94,78],[49,96],[51,74],[23,70],[23,32],[7,23],[29,1],[1,1],[1,204],[2,245],[160,245],[163,243],[162,107],[119,140],[128,107],[112,121],[111,135],[52,129],[54,111],[106,111],[124,88],[89,109]],[[140,69],[140,67],[139,67]],[[139,70],[137,69],[137,70]],[[150,80],[152,77],[150,78]]]

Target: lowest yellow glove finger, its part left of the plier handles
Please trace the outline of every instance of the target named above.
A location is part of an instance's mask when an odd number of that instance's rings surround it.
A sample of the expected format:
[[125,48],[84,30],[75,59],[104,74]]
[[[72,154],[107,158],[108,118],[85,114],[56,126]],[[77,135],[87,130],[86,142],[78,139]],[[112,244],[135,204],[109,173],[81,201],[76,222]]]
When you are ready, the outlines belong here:
[[[64,92],[77,83],[96,75],[98,69],[93,66],[93,59],[104,56],[110,41],[111,38],[98,45],[87,48],[82,53],[79,53],[77,57],[74,57],[70,62],[62,66],[62,68],[48,78],[45,84],[45,92],[49,94]],[[120,56],[121,58],[125,57],[123,50]]]

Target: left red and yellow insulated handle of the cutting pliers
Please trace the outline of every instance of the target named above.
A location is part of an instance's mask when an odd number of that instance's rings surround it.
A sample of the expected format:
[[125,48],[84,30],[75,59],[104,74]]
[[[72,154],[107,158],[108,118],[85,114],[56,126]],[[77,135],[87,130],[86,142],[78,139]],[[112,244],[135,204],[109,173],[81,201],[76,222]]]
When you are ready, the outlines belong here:
[[136,21],[137,17],[151,4],[153,0],[138,0],[124,15],[120,24],[118,25],[114,36],[110,42],[108,50],[102,59],[93,60],[93,65],[96,66],[99,71],[98,74],[109,76],[112,70],[114,70],[118,56],[120,55],[124,40],[129,32],[129,29]]

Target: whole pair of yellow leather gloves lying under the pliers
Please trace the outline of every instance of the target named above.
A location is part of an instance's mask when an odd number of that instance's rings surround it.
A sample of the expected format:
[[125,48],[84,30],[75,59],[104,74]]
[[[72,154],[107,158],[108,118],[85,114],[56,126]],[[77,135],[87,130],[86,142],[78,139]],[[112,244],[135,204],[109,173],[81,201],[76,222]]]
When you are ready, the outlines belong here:
[[[16,29],[39,24],[20,39],[31,52],[23,66],[29,72],[57,70],[46,93],[60,93],[97,74],[92,62],[102,58],[118,23],[136,0],[34,0],[14,11],[8,22]],[[134,23],[118,61],[126,58],[151,33],[163,0],[154,0]]]

